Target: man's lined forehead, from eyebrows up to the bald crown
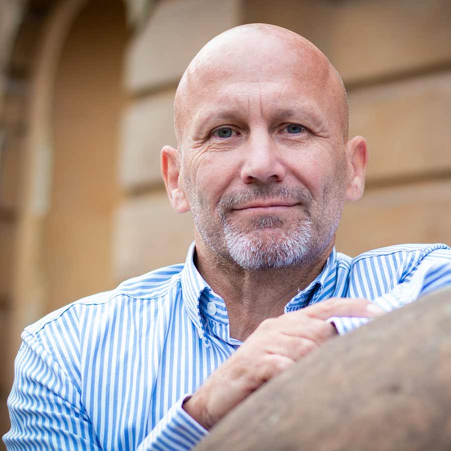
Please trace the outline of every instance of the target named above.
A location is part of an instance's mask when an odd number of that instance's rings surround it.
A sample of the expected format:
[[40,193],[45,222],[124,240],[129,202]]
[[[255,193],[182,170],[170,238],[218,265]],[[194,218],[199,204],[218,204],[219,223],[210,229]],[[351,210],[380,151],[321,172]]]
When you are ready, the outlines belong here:
[[[273,64],[276,63],[276,64]],[[273,120],[298,114],[325,122],[330,115],[328,72],[278,62],[245,61],[233,68],[216,66],[194,79],[185,98],[185,127],[211,120],[261,117]]]

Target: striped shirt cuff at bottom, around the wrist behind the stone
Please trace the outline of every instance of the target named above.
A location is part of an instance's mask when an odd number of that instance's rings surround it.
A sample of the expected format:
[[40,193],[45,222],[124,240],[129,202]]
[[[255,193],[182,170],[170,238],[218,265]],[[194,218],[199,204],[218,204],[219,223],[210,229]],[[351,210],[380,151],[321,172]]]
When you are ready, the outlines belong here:
[[185,410],[182,404],[191,394],[183,395],[161,418],[137,451],[187,451],[192,449],[208,431]]

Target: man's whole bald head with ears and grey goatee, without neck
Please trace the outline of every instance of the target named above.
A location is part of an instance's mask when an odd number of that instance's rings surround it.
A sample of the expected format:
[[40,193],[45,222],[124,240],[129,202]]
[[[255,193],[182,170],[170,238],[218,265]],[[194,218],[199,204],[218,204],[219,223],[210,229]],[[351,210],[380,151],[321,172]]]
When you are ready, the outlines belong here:
[[174,125],[178,150],[162,150],[172,205],[193,213],[198,251],[245,270],[318,258],[363,192],[366,143],[348,141],[341,78],[288,30],[245,25],[206,44]]

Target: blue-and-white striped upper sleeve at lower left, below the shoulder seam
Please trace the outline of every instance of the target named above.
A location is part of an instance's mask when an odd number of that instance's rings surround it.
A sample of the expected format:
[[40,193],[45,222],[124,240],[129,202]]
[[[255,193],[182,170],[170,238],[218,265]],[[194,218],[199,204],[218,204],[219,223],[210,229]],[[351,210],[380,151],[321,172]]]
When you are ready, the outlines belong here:
[[33,335],[25,331],[22,338],[8,398],[7,449],[100,451],[72,379]]

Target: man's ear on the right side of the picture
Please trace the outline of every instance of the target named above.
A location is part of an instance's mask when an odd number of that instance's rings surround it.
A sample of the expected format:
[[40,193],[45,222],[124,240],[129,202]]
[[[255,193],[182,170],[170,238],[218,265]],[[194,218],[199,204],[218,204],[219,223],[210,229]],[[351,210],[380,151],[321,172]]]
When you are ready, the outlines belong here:
[[346,200],[358,200],[365,188],[365,169],[368,164],[368,144],[365,138],[355,136],[346,144],[348,186]]

